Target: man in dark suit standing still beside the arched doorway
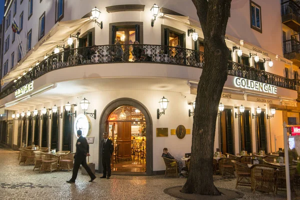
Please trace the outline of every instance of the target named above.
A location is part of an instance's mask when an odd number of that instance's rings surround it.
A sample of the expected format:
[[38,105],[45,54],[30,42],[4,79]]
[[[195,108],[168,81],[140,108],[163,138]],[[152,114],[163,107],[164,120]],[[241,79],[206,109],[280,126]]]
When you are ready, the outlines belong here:
[[[102,166],[103,166],[103,175],[100,178],[105,178],[107,175],[107,179],[110,178],[111,168],[110,168],[110,159],[113,153],[113,143],[110,139],[108,139],[108,133],[103,132],[103,138],[101,140],[101,155],[102,155]],[[107,173],[106,173],[107,172]]]

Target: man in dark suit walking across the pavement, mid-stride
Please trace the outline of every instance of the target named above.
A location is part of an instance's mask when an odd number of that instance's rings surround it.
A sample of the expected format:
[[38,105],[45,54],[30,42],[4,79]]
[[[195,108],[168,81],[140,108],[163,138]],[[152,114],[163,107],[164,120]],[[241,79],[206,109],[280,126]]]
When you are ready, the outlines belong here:
[[71,179],[66,181],[68,183],[75,182],[80,164],[85,168],[86,172],[88,173],[90,177],[89,182],[92,182],[96,178],[95,174],[91,172],[90,168],[86,164],[86,156],[89,156],[89,147],[86,138],[83,137],[81,134],[81,130],[77,130],[78,139],[76,141],[73,174]]

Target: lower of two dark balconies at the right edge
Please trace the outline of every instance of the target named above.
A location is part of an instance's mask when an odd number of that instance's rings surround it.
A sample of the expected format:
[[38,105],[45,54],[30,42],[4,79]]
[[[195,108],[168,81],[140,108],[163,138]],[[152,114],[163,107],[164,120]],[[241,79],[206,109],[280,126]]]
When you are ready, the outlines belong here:
[[283,55],[286,59],[293,62],[294,65],[300,67],[300,41],[291,36],[291,39],[283,41]]

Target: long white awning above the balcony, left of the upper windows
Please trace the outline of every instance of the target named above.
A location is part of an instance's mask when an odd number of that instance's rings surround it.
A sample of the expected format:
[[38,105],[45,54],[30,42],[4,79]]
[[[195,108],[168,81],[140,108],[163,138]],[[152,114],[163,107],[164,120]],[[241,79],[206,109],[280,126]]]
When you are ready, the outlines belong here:
[[57,22],[50,31],[44,35],[24,57],[1,79],[1,85],[17,78],[39,59],[43,59],[46,53],[51,52],[57,44],[63,44],[68,35],[77,30],[90,18],[81,18],[69,21]]

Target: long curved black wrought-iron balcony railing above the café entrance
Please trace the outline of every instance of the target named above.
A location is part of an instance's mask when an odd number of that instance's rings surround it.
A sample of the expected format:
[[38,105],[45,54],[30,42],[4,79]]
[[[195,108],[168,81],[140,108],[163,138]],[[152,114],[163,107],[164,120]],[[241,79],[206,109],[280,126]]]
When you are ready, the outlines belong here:
[[[31,82],[43,74],[65,67],[101,63],[163,63],[202,68],[204,53],[186,48],[149,44],[112,44],[65,49],[50,55],[34,66],[12,85],[0,93],[4,98],[17,88]],[[150,66],[149,66],[150,67]],[[273,73],[228,61],[228,74],[264,82],[288,89],[296,89],[296,81]]]

